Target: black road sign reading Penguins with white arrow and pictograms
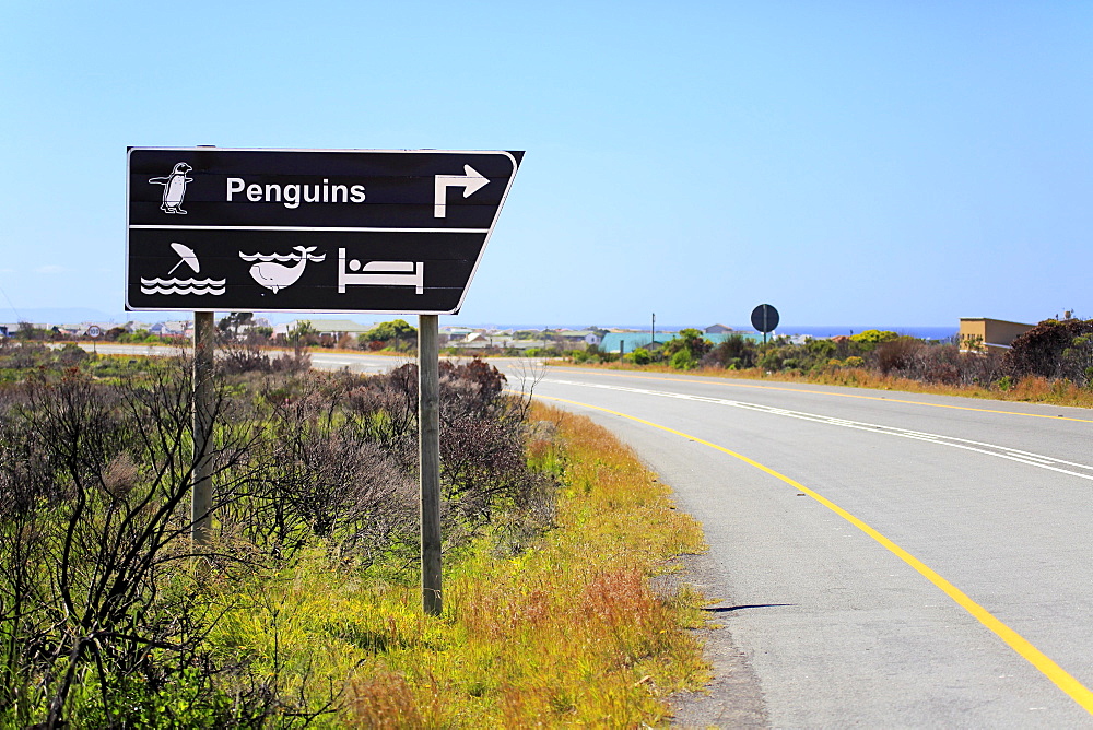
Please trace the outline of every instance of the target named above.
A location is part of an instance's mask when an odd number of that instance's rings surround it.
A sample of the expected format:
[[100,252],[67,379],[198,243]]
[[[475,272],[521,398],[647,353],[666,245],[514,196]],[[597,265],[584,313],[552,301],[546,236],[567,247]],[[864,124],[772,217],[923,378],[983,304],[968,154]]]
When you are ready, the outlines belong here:
[[522,155],[132,148],[126,308],[455,314]]

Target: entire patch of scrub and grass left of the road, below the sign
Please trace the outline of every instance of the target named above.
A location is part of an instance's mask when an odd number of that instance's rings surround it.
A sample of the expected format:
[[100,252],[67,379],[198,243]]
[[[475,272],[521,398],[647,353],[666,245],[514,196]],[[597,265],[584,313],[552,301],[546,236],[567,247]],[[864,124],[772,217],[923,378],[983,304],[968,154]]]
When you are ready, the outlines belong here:
[[707,679],[650,580],[701,530],[603,429],[442,365],[432,617],[414,366],[221,368],[198,557],[187,363],[0,348],[0,727],[625,727]]

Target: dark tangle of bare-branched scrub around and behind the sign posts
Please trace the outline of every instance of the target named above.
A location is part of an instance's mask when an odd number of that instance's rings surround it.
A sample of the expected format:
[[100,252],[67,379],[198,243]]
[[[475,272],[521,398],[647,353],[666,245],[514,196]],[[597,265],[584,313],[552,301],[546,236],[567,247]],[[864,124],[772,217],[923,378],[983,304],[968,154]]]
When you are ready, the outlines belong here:
[[[223,610],[209,590],[313,544],[361,569],[412,563],[416,367],[294,377],[260,351],[231,357],[239,374],[218,381],[208,455],[214,540],[199,558],[189,363],[109,381],[42,368],[0,389],[0,726],[79,713],[97,727],[249,727],[330,711],[333,695],[281,696],[224,663],[207,640]],[[492,529],[518,551],[553,521],[555,480],[525,455],[528,399],[504,384],[481,361],[442,366],[448,548]]]

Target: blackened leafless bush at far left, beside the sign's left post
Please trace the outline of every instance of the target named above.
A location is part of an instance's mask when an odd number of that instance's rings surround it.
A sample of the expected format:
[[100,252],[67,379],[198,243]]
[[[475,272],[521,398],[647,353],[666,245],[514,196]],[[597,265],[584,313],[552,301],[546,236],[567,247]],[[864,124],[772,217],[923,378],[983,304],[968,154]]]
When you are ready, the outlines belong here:
[[[4,441],[22,458],[4,487],[22,499],[0,519],[14,679],[0,711],[23,720],[44,706],[56,727],[70,693],[94,687],[111,722],[134,681],[156,691],[197,655],[201,611],[174,567],[189,553],[187,393],[163,373],[103,386],[70,369],[32,378],[7,409]],[[39,562],[28,576],[30,555]]]

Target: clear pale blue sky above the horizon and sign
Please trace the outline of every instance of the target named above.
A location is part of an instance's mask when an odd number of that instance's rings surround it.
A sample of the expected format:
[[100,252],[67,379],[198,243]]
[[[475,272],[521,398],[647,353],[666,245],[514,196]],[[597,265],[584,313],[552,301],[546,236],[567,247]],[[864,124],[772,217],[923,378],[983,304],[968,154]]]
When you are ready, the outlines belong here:
[[1050,1],[8,0],[0,321],[119,315],[126,148],[193,144],[526,150],[442,325],[1093,317],[1091,30]]

